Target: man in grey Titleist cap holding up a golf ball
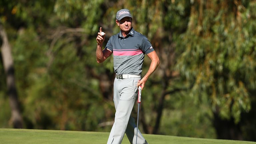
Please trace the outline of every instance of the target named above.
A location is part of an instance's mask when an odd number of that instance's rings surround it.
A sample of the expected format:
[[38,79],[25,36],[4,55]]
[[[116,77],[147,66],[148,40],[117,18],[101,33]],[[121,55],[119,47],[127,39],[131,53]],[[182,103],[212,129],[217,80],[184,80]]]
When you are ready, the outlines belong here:
[[[120,32],[110,37],[105,49],[105,40],[101,34],[96,38],[96,59],[98,63],[105,61],[112,53],[114,58],[114,104],[116,108],[115,122],[111,129],[107,144],[121,144],[126,133],[131,144],[135,144],[137,128],[131,111],[138,95],[138,86],[142,90],[148,77],[156,70],[160,61],[149,40],[132,27],[132,15],[128,9],[121,9],[116,13],[116,24]],[[151,59],[146,75],[141,79],[144,54]],[[138,131],[138,144],[148,144]]]

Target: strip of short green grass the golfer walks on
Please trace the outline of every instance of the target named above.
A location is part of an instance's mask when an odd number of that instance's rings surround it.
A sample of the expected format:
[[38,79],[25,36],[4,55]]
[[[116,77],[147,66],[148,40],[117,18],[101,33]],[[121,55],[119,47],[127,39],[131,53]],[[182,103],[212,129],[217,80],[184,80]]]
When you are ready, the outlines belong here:
[[[106,144],[107,132],[0,129],[1,144]],[[256,144],[256,142],[144,134],[150,144]],[[122,144],[129,144],[125,136]]]

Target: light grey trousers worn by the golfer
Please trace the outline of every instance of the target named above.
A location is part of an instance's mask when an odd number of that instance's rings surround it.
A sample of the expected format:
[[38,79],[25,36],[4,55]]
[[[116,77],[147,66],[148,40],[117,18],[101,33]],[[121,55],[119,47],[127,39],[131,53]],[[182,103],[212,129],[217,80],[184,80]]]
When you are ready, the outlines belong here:
[[[107,144],[121,144],[126,133],[131,144],[136,143],[137,128],[131,112],[138,97],[137,83],[140,77],[117,79],[114,81],[115,122],[110,131]],[[148,144],[138,130],[137,144]]]

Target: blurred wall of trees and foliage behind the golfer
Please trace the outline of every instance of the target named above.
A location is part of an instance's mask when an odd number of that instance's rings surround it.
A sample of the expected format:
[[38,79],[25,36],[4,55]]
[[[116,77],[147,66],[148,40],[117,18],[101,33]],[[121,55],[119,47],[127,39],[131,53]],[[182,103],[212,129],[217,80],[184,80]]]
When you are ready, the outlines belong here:
[[143,133],[256,141],[255,0],[1,0],[0,128],[109,132],[113,58],[96,62],[96,37],[122,8],[161,61]]

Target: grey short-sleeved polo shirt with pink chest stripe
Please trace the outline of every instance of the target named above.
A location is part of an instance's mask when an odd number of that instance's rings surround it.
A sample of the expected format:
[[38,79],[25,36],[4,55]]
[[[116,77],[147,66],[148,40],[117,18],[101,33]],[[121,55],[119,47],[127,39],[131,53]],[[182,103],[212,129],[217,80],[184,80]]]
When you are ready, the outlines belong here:
[[121,31],[110,37],[105,49],[113,52],[117,74],[141,75],[144,55],[154,51],[148,38],[133,28],[124,37]]

